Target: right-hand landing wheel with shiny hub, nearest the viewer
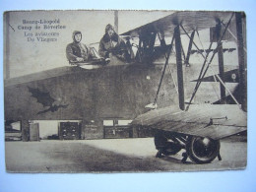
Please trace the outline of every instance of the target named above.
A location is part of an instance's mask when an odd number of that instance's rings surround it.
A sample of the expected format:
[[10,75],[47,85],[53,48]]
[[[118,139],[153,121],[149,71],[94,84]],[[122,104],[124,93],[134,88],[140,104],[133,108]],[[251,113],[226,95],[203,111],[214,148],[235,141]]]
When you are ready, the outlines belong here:
[[220,154],[220,140],[211,138],[189,137],[186,144],[187,155],[196,163],[209,163]]

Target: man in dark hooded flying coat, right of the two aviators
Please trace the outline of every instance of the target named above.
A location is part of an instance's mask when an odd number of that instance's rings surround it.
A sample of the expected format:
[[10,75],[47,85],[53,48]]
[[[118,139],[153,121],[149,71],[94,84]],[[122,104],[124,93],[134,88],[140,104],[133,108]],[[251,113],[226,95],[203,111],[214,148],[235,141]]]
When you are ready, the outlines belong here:
[[121,60],[127,60],[126,44],[110,24],[105,27],[105,33],[99,42],[98,52],[106,60],[110,59],[109,53]]

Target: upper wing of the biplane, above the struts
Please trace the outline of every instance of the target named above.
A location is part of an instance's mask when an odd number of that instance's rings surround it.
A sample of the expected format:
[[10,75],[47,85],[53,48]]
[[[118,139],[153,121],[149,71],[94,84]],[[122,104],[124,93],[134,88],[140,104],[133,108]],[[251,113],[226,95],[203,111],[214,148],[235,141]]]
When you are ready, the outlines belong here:
[[[210,12],[210,11],[180,11],[168,15],[160,20],[146,24],[121,35],[138,37],[145,32],[161,32],[164,36],[171,36],[177,25],[182,25],[186,32],[193,30],[204,30],[215,27],[217,21],[227,22],[232,12]],[[181,32],[182,33],[182,32]]]

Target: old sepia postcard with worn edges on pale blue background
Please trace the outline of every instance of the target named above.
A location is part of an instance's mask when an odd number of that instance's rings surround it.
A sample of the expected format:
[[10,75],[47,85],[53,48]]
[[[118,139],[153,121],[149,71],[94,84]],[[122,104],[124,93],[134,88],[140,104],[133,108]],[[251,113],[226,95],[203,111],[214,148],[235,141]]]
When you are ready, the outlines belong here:
[[243,12],[4,13],[8,172],[243,169]]

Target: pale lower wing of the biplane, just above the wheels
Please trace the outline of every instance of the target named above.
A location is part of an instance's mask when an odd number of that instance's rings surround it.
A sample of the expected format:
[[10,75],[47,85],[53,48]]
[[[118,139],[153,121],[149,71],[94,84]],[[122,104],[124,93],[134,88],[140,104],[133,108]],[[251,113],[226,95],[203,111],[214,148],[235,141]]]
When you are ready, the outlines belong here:
[[188,111],[172,106],[155,109],[138,116],[132,124],[222,139],[245,131],[246,119],[246,112],[234,104],[193,104]]

